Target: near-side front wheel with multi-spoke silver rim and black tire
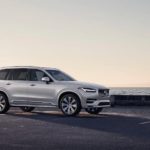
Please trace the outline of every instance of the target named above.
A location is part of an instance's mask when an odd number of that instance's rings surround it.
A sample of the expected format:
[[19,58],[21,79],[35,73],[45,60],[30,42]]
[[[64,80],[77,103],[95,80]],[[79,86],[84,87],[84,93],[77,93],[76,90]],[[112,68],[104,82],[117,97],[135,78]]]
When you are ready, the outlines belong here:
[[66,116],[76,116],[81,111],[81,103],[75,94],[66,94],[61,97],[59,106]]

